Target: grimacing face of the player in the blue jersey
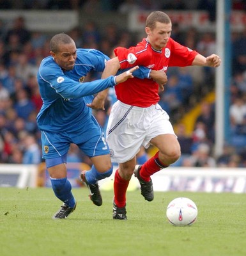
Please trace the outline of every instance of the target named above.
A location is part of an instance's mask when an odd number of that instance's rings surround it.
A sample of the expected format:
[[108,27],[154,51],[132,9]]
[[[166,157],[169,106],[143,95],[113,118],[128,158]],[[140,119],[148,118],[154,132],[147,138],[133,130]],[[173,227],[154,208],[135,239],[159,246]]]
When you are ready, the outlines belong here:
[[54,61],[58,63],[62,70],[72,70],[75,65],[75,60],[77,58],[77,49],[75,44],[61,44],[59,45],[58,52],[50,52]]

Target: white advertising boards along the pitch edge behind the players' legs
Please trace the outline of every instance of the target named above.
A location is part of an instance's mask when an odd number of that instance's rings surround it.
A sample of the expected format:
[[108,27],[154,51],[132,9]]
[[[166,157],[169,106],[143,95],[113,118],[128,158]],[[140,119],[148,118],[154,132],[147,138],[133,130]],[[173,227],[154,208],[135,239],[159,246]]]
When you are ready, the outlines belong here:
[[[114,172],[116,171],[114,166]],[[75,179],[79,178],[81,168],[77,168],[78,175],[69,175],[71,183],[76,186]],[[49,180],[45,175],[45,169],[42,170],[43,179]],[[38,174],[39,173],[39,174]],[[17,188],[35,188],[40,184],[40,166],[24,164],[0,164],[0,187],[15,186]],[[153,189],[155,191],[201,191],[201,192],[232,192],[246,193],[246,170],[244,168],[176,168],[169,167],[155,173],[153,180]],[[43,180],[43,186],[48,182]],[[104,190],[113,189],[114,173],[111,177],[100,180],[100,188]],[[40,180],[39,180],[40,181]],[[48,185],[49,186],[49,185]],[[139,188],[138,180],[133,176],[128,190]]]

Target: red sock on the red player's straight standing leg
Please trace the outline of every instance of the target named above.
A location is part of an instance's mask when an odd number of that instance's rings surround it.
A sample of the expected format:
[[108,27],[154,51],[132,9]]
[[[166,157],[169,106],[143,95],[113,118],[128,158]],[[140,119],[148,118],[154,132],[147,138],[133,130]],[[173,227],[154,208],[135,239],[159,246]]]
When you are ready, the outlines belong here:
[[118,170],[114,175],[114,202],[118,207],[125,207],[127,203],[127,188],[130,180],[124,180],[119,176]]

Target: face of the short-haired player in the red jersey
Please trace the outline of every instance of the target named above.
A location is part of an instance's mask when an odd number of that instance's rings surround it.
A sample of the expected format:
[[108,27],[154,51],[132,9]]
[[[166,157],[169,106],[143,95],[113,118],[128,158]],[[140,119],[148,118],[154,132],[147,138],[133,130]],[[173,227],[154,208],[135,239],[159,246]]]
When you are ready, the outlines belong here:
[[156,22],[155,28],[150,29],[146,28],[146,33],[148,35],[148,40],[151,44],[151,46],[154,49],[157,49],[160,51],[162,48],[164,48],[167,45],[167,42],[169,40],[169,37],[171,36],[172,31],[172,24],[168,23],[161,23]]

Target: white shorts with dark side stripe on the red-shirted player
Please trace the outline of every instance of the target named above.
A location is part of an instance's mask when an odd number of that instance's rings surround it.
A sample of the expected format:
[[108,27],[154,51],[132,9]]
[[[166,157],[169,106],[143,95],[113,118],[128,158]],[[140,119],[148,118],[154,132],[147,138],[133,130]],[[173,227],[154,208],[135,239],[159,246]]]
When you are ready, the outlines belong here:
[[150,147],[151,139],[160,134],[174,134],[169,115],[160,105],[139,108],[118,100],[112,106],[107,143],[113,163],[125,163],[132,159],[141,146]]

